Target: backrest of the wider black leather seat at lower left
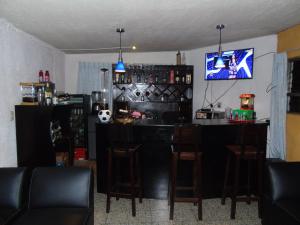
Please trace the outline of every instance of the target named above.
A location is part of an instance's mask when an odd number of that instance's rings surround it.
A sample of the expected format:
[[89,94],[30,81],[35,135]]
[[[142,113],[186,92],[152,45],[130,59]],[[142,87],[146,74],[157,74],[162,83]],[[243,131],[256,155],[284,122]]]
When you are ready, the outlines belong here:
[[84,168],[37,168],[32,173],[29,208],[88,208],[91,171]]

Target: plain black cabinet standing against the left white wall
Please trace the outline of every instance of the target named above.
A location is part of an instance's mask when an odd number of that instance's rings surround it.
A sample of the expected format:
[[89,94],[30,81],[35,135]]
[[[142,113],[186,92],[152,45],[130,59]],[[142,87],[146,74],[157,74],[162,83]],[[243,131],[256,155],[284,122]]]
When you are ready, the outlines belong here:
[[50,122],[58,120],[63,132],[70,129],[71,105],[15,106],[18,166],[55,166]]

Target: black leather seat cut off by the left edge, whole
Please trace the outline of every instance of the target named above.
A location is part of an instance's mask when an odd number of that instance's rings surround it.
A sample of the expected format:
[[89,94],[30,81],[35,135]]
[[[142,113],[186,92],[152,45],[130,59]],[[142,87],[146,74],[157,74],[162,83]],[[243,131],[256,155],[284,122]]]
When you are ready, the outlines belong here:
[[0,225],[9,224],[25,205],[25,168],[0,169]]

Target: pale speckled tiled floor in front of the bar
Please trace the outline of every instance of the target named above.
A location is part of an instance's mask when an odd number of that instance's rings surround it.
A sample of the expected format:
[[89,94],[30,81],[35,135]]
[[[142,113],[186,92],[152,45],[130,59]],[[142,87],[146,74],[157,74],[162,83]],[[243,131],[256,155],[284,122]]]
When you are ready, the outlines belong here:
[[197,207],[192,203],[175,203],[174,220],[169,220],[169,207],[166,200],[143,199],[137,204],[137,215],[131,215],[128,199],[116,201],[112,198],[110,213],[105,212],[105,195],[95,193],[95,225],[261,225],[257,217],[257,203],[237,204],[236,219],[231,220],[230,200],[221,205],[220,199],[203,201],[203,220],[197,220]]

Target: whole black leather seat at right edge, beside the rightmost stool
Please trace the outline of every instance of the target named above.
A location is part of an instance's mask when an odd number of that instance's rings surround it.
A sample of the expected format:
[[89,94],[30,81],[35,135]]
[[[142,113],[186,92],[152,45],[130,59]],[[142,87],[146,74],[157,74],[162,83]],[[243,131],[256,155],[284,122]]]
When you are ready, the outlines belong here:
[[300,224],[300,162],[272,162],[266,169],[263,225]]

